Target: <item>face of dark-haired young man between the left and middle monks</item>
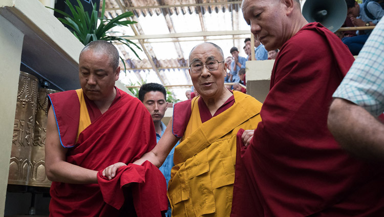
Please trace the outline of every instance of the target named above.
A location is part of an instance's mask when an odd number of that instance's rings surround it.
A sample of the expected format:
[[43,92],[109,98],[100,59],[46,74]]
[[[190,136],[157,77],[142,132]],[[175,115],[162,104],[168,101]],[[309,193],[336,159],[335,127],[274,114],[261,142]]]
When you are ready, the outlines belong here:
[[143,104],[150,112],[153,122],[159,122],[163,119],[168,103],[165,96],[160,91],[150,91],[144,95]]

